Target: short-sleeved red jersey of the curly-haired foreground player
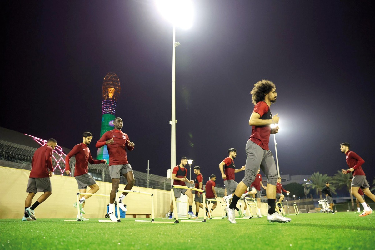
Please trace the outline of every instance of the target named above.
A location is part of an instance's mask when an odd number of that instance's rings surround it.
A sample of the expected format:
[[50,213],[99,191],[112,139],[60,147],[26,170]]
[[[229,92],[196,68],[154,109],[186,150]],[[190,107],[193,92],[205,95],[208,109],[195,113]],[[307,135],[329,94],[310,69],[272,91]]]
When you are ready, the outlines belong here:
[[[270,107],[264,101],[260,101],[257,104],[255,104],[253,113],[258,113],[260,115],[260,119],[272,119]],[[268,147],[268,143],[270,141],[270,134],[270,125],[252,126],[249,140],[256,143],[264,150],[270,150]]]

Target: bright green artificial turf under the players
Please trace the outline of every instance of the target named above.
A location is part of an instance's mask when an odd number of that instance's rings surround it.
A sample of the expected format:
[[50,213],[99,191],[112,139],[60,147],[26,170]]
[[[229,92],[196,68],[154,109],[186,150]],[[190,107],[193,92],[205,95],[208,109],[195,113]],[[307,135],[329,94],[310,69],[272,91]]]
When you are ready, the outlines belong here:
[[[375,249],[375,214],[300,214],[290,223],[260,219],[155,224],[0,220],[0,249]],[[163,221],[156,219],[156,221]]]

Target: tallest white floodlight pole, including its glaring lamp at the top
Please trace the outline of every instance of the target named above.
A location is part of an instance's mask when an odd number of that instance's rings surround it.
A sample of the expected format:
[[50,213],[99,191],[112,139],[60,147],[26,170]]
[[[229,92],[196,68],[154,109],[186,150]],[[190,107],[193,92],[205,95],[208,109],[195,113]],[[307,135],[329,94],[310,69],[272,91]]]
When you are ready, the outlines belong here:
[[[172,42],[172,119],[171,124],[171,173],[176,164],[176,25],[189,28],[192,25],[192,3],[189,0],[157,0],[157,7],[162,15],[173,23]],[[191,175],[191,174],[190,174]],[[173,180],[171,178],[171,185]]]

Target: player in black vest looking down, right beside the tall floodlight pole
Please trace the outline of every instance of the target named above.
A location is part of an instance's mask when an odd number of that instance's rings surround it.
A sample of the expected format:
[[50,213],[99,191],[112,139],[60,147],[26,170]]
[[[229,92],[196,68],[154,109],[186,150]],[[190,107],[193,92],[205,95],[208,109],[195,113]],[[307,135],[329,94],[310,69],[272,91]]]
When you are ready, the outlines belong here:
[[[186,186],[185,182],[194,183],[193,180],[188,180],[186,178],[186,174],[187,174],[187,169],[185,168],[186,164],[187,164],[187,158],[183,156],[181,158],[180,165],[177,165],[176,167],[173,168],[173,172],[172,172],[173,185]],[[195,214],[193,213],[193,193],[190,191],[190,189],[174,188],[173,192],[174,192],[175,198],[180,198],[181,193],[189,197],[189,211],[187,212],[187,214],[189,214],[191,217],[196,217]],[[169,219],[172,219],[172,216],[173,216],[173,201],[171,201],[171,214],[169,215]]]

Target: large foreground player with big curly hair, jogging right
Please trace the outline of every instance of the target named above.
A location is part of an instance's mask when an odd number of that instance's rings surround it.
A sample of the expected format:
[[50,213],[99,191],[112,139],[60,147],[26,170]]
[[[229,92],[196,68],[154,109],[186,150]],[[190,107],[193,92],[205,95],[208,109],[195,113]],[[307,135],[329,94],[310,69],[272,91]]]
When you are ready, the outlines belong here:
[[270,127],[271,124],[278,124],[280,119],[278,114],[272,116],[270,111],[271,104],[276,103],[278,96],[276,86],[269,80],[261,80],[254,84],[250,94],[252,94],[252,101],[255,107],[249,120],[252,130],[251,136],[246,143],[245,177],[237,186],[231,204],[226,207],[228,220],[230,223],[236,223],[234,208],[241,195],[254,182],[258,168],[261,168],[268,178],[266,193],[269,210],[267,220],[269,222],[290,222],[290,218],[281,216],[275,210],[278,175],[275,160],[268,147],[270,134],[276,134],[279,131],[279,126]]

